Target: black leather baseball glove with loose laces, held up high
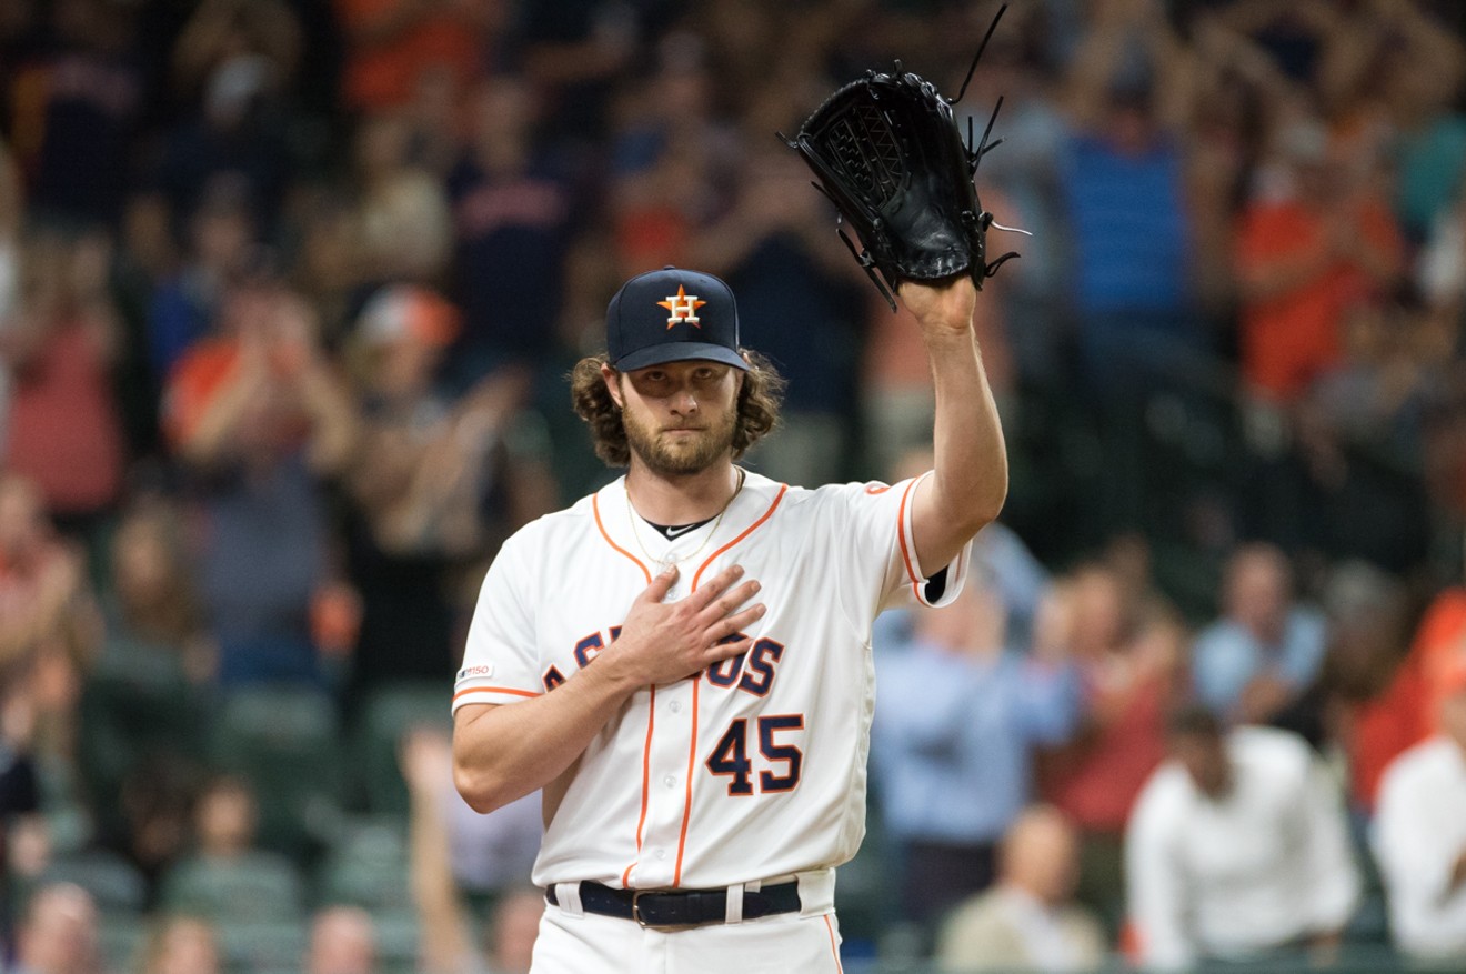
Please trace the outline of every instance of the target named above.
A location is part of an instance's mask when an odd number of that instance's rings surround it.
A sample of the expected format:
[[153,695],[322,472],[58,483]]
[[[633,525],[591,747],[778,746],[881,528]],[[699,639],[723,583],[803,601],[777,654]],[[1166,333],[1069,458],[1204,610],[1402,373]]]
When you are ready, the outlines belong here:
[[[1003,9],[987,37],[992,37],[1001,16]],[[969,82],[982,47],[968,70]],[[987,260],[992,214],[982,208],[973,185],[982,155],[1001,142],[990,144],[988,135],[1003,100],[973,147],[970,120],[963,141],[951,111],[966,88],[963,82],[957,98],[949,101],[935,85],[903,72],[896,62],[894,73],[869,70],[836,91],[793,139],[784,139],[814,170],[815,188],[855,227],[862,249],[837,224],[840,239],[893,310],[891,295],[902,280],[970,274],[981,289],[998,266],[1017,257],[1009,252]]]

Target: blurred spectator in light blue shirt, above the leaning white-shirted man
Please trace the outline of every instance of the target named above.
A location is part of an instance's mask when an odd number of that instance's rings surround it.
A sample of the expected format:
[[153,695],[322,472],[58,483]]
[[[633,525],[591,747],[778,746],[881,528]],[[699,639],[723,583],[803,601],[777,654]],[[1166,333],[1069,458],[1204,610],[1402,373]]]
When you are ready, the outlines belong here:
[[1294,600],[1293,571],[1271,544],[1227,563],[1223,615],[1196,634],[1198,698],[1229,723],[1267,723],[1318,676],[1324,618]]

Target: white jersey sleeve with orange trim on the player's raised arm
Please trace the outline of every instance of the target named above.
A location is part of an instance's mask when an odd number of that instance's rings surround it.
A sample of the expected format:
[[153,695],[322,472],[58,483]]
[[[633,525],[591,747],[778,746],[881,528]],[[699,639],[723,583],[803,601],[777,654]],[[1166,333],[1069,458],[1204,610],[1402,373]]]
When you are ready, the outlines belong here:
[[[843,524],[831,532],[841,571],[853,588],[875,587],[875,610],[903,606],[944,606],[962,591],[972,540],[947,565],[921,565],[912,534],[912,499],[931,471],[897,484],[846,484],[836,490]],[[863,615],[861,612],[859,615]]]

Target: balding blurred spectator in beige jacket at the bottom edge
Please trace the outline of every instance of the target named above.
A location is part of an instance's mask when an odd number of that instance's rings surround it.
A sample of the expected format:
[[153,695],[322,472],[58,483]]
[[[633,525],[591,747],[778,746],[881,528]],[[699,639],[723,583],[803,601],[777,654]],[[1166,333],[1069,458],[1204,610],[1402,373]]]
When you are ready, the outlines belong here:
[[1057,808],[1032,805],[998,849],[998,882],[943,923],[944,971],[1088,971],[1108,953],[1104,930],[1073,904],[1079,838]]

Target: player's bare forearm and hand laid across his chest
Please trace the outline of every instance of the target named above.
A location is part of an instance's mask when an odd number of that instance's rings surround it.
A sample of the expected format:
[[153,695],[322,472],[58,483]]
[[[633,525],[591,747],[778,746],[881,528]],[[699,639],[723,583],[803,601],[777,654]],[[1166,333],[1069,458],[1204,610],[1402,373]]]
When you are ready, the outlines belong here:
[[727,568],[686,598],[664,603],[668,569],[636,597],[620,637],[589,666],[541,697],[513,704],[466,704],[453,725],[453,780],[475,811],[488,813],[559,777],[644,686],[673,684],[752,648],[724,640],[748,629],[764,604],[748,607],[756,581]]

